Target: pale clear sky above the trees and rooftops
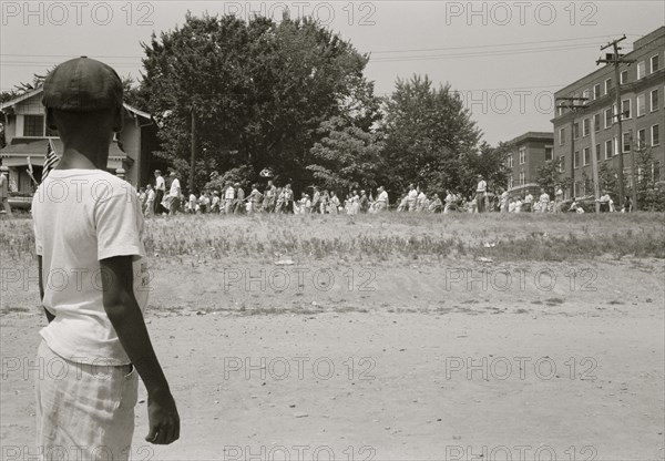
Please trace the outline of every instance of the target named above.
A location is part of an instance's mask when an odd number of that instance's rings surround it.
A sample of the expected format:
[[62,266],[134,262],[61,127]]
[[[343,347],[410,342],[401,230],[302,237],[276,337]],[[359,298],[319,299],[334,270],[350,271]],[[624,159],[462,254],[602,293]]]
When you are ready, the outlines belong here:
[[201,16],[306,16],[370,53],[377,94],[398,79],[451,85],[495,145],[552,131],[554,92],[597,69],[601,47],[665,24],[665,1],[1,1],[0,89],[79,55],[140,78],[141,42]]

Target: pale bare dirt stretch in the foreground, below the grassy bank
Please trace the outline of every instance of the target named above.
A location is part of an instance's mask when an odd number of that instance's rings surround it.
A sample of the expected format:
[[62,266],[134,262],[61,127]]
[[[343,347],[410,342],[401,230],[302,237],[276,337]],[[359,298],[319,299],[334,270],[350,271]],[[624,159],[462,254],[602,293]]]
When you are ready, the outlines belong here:
[[[182,440],[142,442],[140,403],[133,459],[662,459],[662,307],[501,307],[153,315]],[[2,318],[6,365],[41,324]],[[32,443],[32,373],[4,367],[2,459]]]

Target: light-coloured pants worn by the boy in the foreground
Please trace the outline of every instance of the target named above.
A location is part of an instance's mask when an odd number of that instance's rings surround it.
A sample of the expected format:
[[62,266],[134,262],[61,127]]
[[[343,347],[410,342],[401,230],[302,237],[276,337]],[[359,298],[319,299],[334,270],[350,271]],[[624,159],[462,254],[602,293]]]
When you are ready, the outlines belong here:
[[131,458],[139,377],[131,365],[65,360],[37,351],[37,447],[41,460]]

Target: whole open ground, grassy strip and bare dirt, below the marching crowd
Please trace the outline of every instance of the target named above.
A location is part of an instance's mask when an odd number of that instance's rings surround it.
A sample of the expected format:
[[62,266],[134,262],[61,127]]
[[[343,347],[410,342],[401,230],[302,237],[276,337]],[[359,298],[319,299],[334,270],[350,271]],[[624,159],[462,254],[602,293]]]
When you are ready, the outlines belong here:
[[[663,223],[151,222],[146,321],[182,433],[143,441],[141,389],[132,459],[663,460]],[[24,460],[45,325],[30,221],[0,244],[1,458]]]

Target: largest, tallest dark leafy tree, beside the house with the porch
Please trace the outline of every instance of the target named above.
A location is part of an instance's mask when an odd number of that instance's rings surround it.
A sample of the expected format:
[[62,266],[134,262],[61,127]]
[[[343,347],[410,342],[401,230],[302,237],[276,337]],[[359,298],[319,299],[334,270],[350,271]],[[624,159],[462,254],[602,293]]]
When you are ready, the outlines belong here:
[[[196,185],[244,166],[278,180],[311,181],[310,147],[321,122],[362,82],[367,57],[310,20],[196,18],[143,44],[143,85],[161,124],[161,155],[190,174],[197,133]],[[192,112],[194,115],[192,116]]]

